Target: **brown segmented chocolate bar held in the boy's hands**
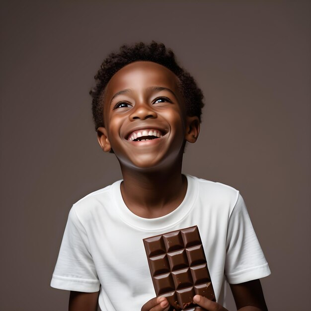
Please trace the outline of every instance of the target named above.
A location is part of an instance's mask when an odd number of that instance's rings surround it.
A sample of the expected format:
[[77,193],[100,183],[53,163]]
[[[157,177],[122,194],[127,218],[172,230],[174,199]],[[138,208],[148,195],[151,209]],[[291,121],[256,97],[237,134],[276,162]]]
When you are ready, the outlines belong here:
[[143,241],[156,296],[166,297],[170,310],[194,310],[196,294],[216,301],[197,226]]

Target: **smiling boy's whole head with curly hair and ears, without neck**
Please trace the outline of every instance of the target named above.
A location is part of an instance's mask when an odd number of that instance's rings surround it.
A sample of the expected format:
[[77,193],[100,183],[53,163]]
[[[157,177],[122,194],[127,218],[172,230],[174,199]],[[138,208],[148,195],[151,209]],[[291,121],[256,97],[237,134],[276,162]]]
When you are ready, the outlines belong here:
[[203,95],[172,52],[156,43],[122,47],[96,77],[93,114],[103,151],[123,167],[178,167],[185,143],[198,137]]

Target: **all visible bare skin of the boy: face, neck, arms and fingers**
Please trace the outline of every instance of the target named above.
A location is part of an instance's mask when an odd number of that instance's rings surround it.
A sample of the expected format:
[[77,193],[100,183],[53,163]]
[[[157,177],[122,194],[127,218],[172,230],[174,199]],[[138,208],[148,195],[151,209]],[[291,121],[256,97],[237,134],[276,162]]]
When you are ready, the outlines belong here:
[[[112,149],[117,156],[125,204],[143,218],[167,215],[185,197],[184,146],[194,143],[200,131],[198,117],[186,115],[178,78],[156,63],[135,62],[110,79],[103,97],[105,127],[97,130],[98,142],[104,152]],[[156,138],[135,141],[135,135]],[[231,290],[238,310],[267,310],[259,280],[231,284]],[[97,300],[98,292],[71,292],[69,310],[96,311]],[[199,295],[194,302],[207,311],[227,310]],[[141,310],[166,311],[168,302],[153,298]]]

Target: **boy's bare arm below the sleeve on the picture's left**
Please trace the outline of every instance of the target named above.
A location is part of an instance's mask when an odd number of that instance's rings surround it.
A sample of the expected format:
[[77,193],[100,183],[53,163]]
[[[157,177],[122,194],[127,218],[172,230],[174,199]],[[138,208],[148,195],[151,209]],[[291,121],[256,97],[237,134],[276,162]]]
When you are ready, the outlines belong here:
[[99,292],[70,292],[69,311],[96,311]]

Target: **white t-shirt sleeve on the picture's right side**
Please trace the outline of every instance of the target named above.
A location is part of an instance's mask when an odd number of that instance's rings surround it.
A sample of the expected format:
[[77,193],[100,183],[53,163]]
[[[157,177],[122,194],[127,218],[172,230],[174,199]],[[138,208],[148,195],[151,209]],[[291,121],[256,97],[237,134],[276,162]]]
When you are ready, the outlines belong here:
[[240,195],[229,218],[226,246],[225,274],[230,284],[263,278],[271,273]]

